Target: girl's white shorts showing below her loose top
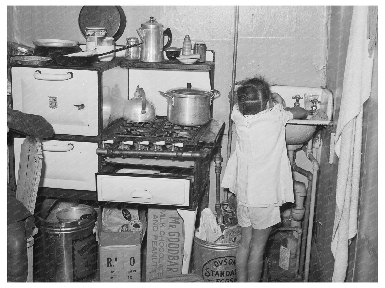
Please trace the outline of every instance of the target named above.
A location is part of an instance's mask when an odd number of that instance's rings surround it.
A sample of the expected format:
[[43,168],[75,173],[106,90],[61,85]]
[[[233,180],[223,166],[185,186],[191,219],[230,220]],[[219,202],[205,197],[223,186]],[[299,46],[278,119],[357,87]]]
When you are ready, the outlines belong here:
[[279,206],[246,207],[237,205],[238,224],[241,227],[253,227],[254,229],[266,229],[281,222]]

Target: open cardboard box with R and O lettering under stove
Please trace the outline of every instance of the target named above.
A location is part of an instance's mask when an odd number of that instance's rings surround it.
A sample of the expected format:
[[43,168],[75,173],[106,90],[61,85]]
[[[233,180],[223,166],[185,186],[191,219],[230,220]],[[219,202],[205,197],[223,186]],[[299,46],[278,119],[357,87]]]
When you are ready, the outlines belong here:
[[101,217],[97,219],[100,282],[141,282],[141,243],[146,232],[146,212],[139,212],[143,233],[102,232]]

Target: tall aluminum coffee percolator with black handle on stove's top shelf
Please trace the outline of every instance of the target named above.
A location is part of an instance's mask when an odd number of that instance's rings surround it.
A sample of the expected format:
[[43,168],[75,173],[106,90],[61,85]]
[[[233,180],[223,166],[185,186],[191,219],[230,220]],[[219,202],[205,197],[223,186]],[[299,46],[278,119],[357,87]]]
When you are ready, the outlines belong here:
[[[164,48],[171,46],[172,33],[170,28],[163,29],[163,24],[158,23],[154,17],[150,17],[146,23],[142,23],[141,28],[136,30],[144,42],[139,53],[139,61],[142,62],[162,62],[164,61]],[[163,35],[168,36],[166,45]]]

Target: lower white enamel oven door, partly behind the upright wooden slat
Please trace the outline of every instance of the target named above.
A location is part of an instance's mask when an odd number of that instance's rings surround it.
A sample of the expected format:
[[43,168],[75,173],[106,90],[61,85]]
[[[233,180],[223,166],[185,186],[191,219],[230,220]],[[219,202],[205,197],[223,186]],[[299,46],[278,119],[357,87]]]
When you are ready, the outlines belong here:
[[[16,183],[19,169],[20,147],[25,138],[15,138]],[[96,191],[97,143],[63,140],[42,142],[42,187]]]

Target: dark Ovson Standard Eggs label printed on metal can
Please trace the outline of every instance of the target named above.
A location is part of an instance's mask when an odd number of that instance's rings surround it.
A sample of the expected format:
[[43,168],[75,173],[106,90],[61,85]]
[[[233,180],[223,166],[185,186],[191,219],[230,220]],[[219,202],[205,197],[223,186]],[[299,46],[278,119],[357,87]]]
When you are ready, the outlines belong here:
[[235,256],[218,257],[204,263],[202,278],[206,282],[236,282]]

